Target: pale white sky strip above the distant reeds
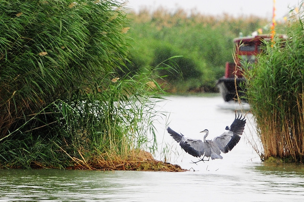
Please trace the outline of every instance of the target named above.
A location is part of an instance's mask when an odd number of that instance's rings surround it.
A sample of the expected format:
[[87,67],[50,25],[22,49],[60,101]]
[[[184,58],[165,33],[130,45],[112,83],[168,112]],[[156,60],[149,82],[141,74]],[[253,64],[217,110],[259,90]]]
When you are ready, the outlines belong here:
[[[167,10],[182,8],[186,12],[199,12],[206,15],[227,13],[235,17],[255,15],[271,19],[274,0],[126,0],[127,7],[139,11],[147,8],[151,11],[163,7]],[[286,16],[289,8],[297,7],[301,0],[275,0],[276,18]]]

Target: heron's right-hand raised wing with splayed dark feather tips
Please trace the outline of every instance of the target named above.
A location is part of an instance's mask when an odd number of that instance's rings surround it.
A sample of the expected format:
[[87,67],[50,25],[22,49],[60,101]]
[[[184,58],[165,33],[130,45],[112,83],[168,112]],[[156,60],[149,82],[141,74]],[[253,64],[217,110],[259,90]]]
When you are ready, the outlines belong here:
[[238,115],[238,117],[236,115],[236,118],[231,124],[230,128],[226,127],[228,131],[224,132],[218,137],[215,137],[212,141],[218,145],[219,149],[223,153],[227,153],[228,151],[233,149],[233,147],[235,147],[235,145],[240,141],[240,135],[243,134],[245,124],[245,117],[242,118],[242,115],[240,116],[240,114]]

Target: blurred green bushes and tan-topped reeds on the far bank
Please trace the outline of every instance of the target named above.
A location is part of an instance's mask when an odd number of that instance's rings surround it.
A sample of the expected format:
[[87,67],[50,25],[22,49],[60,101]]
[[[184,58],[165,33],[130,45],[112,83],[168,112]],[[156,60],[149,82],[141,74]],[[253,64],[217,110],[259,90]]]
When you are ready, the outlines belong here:
[[128,17],[131,28],[127,35],[134,39],[130,50],[131,60],[136,59],[134,66],[156,66],[174,55],[183,56],[170,61],[176,71],[160,72],[168,75],[165,79],[170,84],[182,86],[181,91],[217,91],[215,83],[224,75],[225,62],[233,60],[233,38],[240,32],[250,35],[269,23],[254,16],[206,16],[183,10],[170,13],[161,8],[131,12]]

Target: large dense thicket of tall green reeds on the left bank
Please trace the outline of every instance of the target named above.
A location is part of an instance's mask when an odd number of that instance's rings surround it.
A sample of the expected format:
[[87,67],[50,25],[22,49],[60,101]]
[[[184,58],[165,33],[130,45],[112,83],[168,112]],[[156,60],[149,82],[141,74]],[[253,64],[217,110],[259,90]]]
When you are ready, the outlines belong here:
[[122,5],[14,0],[0,11],[0,167],[90,166],[146,145],[160,86],[150,69],[121,68]]

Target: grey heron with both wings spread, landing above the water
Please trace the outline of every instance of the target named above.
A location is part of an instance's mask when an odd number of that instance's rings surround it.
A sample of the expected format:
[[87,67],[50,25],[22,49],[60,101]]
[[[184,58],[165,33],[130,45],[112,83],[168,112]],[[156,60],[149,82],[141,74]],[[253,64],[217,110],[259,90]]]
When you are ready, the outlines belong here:
[[[183,148],[186,153],[194,156],[194,157],[202,157],[200,161],[209,161],[211,159],[222,159],[220,153],[227,153],[240,141],[241,136],[244,131],[244,127],[246,124],[245,117],[242,118],[240,114],[235,117],[234,122],[231,126],[226,126],[225,131],[220,136],[215,137],[212,140],[207,139],[206,137],[209,134],[209,130],[205,129],[201,132],[206,133],[204,136],[204,140],[200,139],[191,139],[185,137],[183,134],[179,134],[172,130],[170,127],[167,128],[168,133],[179,143],[181,148]],[[205,157],[208,157],[208,160],[204,160]],[[193,163],[198,163],[193,162]]]

